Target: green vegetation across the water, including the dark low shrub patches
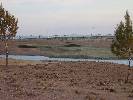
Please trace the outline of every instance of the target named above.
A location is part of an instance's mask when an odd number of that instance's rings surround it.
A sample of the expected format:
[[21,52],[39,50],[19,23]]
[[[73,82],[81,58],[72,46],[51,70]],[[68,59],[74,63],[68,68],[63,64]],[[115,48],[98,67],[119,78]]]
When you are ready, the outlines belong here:
[[103,57],[111,58],[115,57],[109,47],[96,47],[87,46],[75,43],[69,43],[64,45],[46,45],[36,43],[25,43],[17,45],[18,48],[35,48],[41,52],[44,56],[49,57],[63,57],[63,58],[93,58]]

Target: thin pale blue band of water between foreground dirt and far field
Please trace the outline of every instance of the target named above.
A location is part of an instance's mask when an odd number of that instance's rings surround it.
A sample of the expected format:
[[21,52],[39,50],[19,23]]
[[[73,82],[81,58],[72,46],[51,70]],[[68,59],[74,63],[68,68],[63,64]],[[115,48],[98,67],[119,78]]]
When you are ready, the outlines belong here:
[[[5,55],[0,55],[1,58],[5,58]],[[116,64],[125,64],[128,65],[129,61],[127,59],[118,59],[118,58],[107,58],[107,57],[86,57],[86,58],[69,58],[69,57],[45,57],[45,56],[32,56],[32,55],[9,55],[11,59],[16,60],[30,60],[30,61],[96,61],[96,62],[110,62]],[[130,61],[131,66],[133,66],[133,60]]]

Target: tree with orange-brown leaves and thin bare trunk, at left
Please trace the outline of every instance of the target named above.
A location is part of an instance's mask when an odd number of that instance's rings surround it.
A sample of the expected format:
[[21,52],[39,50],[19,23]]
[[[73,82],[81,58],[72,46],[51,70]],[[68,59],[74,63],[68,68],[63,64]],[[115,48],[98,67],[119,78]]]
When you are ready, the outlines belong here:
[[8,40],[15,37],[18,30],[18,19],[0,5],[0,39],[5,44],[6,66],[8,66]]

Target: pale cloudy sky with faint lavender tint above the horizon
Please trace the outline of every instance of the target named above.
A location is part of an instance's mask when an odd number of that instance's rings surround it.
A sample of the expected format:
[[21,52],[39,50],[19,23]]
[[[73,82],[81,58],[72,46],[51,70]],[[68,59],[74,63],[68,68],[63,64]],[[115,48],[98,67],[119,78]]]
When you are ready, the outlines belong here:
[[18,35],[113,34],[133,0],[0,0],[18,18]]

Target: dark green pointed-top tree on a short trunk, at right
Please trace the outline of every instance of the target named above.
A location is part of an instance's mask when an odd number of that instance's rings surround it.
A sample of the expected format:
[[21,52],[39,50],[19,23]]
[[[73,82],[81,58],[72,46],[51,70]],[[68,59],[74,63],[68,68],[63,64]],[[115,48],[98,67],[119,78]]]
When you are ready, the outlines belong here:
[[116,27],[111,51],[119,58],[128,58],[130,68],[130,60],[133,55],[133,30],[128,11],[126,11],[125,22],[121,21]]

